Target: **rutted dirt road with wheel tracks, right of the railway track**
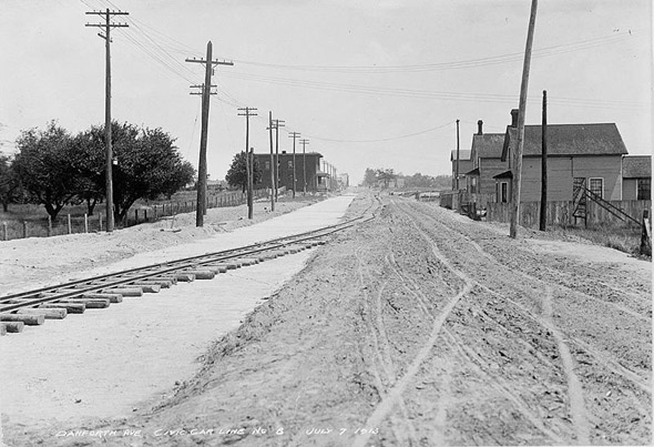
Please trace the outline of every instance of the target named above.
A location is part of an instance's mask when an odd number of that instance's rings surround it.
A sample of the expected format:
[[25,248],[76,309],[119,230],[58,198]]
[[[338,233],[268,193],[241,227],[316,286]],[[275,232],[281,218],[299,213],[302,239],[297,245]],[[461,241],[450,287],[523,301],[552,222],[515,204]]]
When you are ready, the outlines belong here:
[[8,444],[651,444],[651,263],[381,203],[149,415]]

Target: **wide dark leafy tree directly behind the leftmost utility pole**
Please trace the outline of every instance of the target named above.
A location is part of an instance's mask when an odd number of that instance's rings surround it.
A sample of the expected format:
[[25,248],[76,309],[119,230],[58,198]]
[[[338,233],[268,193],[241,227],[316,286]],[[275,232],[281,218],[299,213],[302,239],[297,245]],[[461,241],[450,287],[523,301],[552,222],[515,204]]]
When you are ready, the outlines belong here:
[[[172,195],[193,182],[195,169],[184,160],[174,139],[162,129],[112,122],[113,205],[120,222],[139,199]],[[104,126],[93,126],[76,139],[76,170],[94,186],[88,193],[104,191]]]

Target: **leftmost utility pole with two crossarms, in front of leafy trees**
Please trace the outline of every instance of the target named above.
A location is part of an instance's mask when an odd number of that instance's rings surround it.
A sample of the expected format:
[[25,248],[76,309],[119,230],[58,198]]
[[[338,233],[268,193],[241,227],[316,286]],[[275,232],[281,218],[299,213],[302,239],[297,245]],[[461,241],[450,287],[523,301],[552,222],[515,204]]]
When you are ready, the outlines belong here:
[[106,176],[105,181],[105,199],[106,199],[106,232],[113,232],[113,149],[111,146],[111,29],[112,28],[127,28],[127,23],[111,23],[112,16],[129,16],[129,12],[123,11],[110,11],[109,8],[105,11],[91,11],[86,12],[86,16],[100,16],[104,17],[104,23],[86,23],[86,27],[104,28],[104,34],[99,32],[102,39],[104,39],[104,53],[105,53],[105,81],[104,81],[104,145],[105,145],[105,164],[104,173]]

